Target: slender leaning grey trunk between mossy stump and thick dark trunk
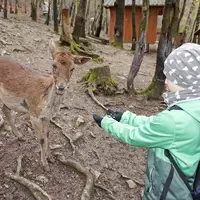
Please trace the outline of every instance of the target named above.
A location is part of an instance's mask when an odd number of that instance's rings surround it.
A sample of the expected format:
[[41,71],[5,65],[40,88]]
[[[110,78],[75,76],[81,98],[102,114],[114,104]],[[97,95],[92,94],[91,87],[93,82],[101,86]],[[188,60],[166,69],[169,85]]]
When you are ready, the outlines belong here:
[[135,92],[134,79],[140,69],[140,65],[144,57],[146,31],[147,31],[148,18],[149,18],[149,0],[143,0],[142,14],[143,14],[143,17],[140,22],[139,39],[136,43],[136,53],[134,55],[133,62],[132,62],[129,75],[128,75],[128,80],[127,80],[127,88],[129,92]]

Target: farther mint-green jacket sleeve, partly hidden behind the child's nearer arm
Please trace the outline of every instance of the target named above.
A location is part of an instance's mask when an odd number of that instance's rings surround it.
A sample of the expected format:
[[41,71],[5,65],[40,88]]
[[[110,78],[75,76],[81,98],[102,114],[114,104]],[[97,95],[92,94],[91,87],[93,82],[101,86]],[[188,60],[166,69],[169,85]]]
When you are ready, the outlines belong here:
[[126,111],[123,113],[120,122],[123,124],[129,124],[136,127],[148,123],[151,120],[151,118],[152,116],[147,117],[143,115],[136,115],[130,111]]

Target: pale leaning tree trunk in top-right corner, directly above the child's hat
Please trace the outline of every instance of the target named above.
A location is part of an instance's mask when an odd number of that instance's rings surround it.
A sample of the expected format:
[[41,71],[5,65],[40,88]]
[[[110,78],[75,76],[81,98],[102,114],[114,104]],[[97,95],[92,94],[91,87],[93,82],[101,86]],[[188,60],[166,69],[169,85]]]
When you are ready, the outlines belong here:
[[185,42],[192,42],[193,40],[193,33],[194,33],[194,28],[195,28],[195,22],[196,18],[198,15],[198,9],[199,9],[200,2],[199,0],[193,0],[190,8],[190,13],[187,18],[185,30],[183,33],[183,41],[182,43]]

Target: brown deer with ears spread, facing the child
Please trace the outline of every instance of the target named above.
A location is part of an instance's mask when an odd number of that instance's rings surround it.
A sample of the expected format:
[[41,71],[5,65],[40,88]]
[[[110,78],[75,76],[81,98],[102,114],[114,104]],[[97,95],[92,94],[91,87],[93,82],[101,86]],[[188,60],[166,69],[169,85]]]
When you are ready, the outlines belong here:
[[0,58],[0,100],[12,132],[21,138],[11,117],[11,110],[29,113],[41,146],[41,161],[46,170],[49,169],[48,128],[53,115],[59,109],[64,91],[74,70],[75,64],[84,64],[91,60],[88,57],[77,57],[69,52],[56,50],[53,41],[50,42],[53,56],[52,75],[42,75],[28,67]]

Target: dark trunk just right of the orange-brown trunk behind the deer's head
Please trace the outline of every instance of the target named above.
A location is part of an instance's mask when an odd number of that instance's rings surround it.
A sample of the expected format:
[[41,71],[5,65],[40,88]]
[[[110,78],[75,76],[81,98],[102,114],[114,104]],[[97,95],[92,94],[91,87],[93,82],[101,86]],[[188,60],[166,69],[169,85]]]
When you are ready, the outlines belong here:
[[75,20],[75,27],[73,31],[74,40],[79,43],[79,37],[85,38],[85,12],[86,12],[86,0],[80,0],[78,5],[78,11]]

